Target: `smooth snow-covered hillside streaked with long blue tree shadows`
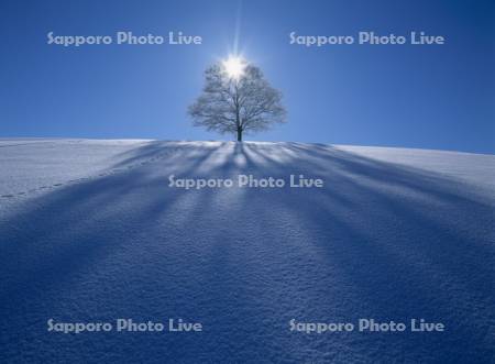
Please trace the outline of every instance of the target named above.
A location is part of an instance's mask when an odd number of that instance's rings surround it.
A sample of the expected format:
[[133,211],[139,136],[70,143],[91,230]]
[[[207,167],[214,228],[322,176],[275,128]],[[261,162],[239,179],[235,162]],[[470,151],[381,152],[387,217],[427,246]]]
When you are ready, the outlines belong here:
[[[0,362],[494,362],[495,156],[300,143],[0,140]],[[323,189],[169,175],[304,174]],[[201,322],[48,333],[46,321]],[[289,320],[443,322],[437,333]]]

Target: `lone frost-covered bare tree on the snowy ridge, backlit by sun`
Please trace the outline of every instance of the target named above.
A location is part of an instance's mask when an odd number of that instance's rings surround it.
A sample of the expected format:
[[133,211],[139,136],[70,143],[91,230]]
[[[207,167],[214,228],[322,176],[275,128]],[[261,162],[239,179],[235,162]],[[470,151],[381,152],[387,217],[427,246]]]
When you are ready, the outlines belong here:
[[232,73],[222,64],[205,71],[202,95],[189,107],[196,126],[222,134],[232,133],[242,141],[243,132],[267,130],[285,122],[282,93],[272,88],[263,73],[253,65],[243,65]]

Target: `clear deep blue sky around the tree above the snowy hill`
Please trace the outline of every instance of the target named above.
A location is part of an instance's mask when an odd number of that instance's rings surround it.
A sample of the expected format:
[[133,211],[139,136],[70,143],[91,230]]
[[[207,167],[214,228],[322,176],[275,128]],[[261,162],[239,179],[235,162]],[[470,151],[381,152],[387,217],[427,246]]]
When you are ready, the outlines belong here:
[[[493,1],[244,1],[240,48],[288,123],[248,140],[495,153]],[[204,69],[233,45],[238,1],[0,3],[0,136],[229,140],[191,126]],[[201,46],[47,45],[46,34],[166,34]],[[289,45],[288,34],[443,35],[442,46]]]

